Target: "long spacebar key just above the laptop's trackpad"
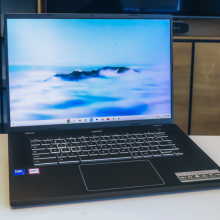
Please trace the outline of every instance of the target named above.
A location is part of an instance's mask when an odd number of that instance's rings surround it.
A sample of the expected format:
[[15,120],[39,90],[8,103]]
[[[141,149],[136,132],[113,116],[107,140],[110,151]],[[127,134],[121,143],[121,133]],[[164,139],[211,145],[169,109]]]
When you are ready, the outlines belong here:
[[89,156],[81,157],[82,163],[96,162],[96,161],[111,161],[111,160],[130,160],[132,159],[131,154],[113,154],[113,155],[103,155],[103,156]]

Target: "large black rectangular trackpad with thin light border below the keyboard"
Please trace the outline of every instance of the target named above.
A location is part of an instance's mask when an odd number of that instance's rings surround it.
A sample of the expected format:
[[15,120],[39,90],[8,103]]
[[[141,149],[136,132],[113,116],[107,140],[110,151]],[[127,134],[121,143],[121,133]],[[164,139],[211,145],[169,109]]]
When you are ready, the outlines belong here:
[[163,185],[149,160],[79,165],[88,191]]

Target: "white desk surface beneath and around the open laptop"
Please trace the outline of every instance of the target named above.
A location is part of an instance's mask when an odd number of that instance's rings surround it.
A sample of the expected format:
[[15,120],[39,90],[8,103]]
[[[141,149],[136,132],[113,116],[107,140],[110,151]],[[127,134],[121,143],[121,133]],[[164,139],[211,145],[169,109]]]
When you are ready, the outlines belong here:
[[[220,165],[220,136],[191,136]],[[152,194],[12,209],[7,135],[0,135],[0,220],[219,220],[220,189]]]

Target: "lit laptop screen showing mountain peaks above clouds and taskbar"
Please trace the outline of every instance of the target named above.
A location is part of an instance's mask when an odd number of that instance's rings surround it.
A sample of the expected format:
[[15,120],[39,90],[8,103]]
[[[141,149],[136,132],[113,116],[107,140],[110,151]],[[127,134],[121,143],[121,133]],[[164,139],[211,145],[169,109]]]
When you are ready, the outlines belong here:
[[10,126],[171,118],[169,19],[8,19]]

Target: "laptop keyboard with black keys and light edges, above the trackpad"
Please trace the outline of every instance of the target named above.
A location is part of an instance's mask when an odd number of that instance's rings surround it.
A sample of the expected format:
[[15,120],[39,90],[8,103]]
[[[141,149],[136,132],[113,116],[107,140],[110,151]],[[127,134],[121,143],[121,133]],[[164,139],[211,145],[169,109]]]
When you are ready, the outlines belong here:
[[182,156],[164,132],[31,139],[33,163],[87,163]]

